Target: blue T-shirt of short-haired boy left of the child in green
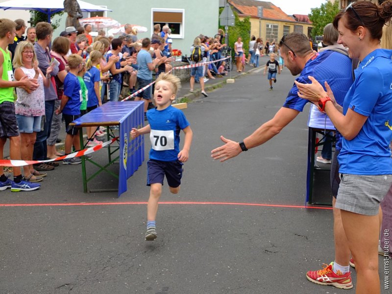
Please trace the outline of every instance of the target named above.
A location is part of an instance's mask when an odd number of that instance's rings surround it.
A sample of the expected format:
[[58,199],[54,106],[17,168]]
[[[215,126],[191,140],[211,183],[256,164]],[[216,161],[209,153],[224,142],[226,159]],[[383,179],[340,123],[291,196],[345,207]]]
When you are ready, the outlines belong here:
[[65,76],[64,95],[69,99],[63,108],[63,113],[68,115],[80,114],[80,104],[83,100],[82,90],[77,76],[72,73],[67,73]]

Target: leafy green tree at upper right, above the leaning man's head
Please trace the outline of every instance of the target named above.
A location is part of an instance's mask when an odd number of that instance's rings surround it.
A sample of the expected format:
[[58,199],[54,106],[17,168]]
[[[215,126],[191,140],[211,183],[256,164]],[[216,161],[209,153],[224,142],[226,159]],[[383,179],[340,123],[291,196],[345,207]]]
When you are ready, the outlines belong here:
[[339,1],[331,3],[327,1],[318,8],[312,8],[309,15],[310,21],[313,23],[312,37],[321,36],[324,26],[332,23],[335,15],[339,13]]

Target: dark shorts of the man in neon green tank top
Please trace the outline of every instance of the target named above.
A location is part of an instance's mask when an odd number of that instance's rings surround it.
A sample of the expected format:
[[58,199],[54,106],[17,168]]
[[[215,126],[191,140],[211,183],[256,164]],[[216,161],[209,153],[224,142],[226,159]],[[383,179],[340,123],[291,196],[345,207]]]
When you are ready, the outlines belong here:
[[15,115],[15,104],[10,101],[0,103],[0,137],[19,136]]

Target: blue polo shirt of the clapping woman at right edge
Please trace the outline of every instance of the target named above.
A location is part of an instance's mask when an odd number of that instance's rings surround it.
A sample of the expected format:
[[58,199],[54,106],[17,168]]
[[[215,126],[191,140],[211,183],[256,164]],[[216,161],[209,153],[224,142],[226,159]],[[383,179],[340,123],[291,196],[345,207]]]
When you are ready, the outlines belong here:
[[358,135],[343,138],[338,160],[339,172],[350,174],[392,174],[392,50],[376,49],[359,64],[355,81],[344,102],[348,108],[367,116]]

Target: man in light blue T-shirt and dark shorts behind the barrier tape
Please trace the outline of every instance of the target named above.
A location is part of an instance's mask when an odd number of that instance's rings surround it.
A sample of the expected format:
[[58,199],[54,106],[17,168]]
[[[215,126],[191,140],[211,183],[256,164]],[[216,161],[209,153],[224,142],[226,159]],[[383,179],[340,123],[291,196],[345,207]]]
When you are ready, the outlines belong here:
[[[160,44],[161,42],[157,39],[152,40],[154,44]],[[148,38],[144,38],[142,41],[142,49],[139,51],[137,56],[138,61],[138,74],[137,74],[137,82],[139,85],[139,89],[146,87],[148,84],[152,82],[152,71],[158,65],[161,58],[154,58],[152,60],[151,54],[148,51],[150,49],[151,41]],[[166,57],[165,57],[166,58]],[[151,87],[148,87],[141,93],[135,97],[135,100],[144,100],[144,112],[145,112],[145,120],[146,112],[148,107],[148,102],[151,101]]]

